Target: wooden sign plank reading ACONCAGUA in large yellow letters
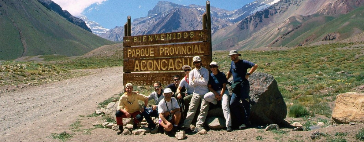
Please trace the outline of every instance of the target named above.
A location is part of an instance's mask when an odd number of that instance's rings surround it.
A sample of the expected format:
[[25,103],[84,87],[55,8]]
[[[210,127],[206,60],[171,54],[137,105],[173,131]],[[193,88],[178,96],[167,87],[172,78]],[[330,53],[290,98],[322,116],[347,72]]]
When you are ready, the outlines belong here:
[[[203,66],[208,66],[211,56],[200,56]],[[124,72],[180,71],[183,65],[193,67],[193,56],[174,58],[124,59]],[[209,69],[209,68],[208,68]]]

